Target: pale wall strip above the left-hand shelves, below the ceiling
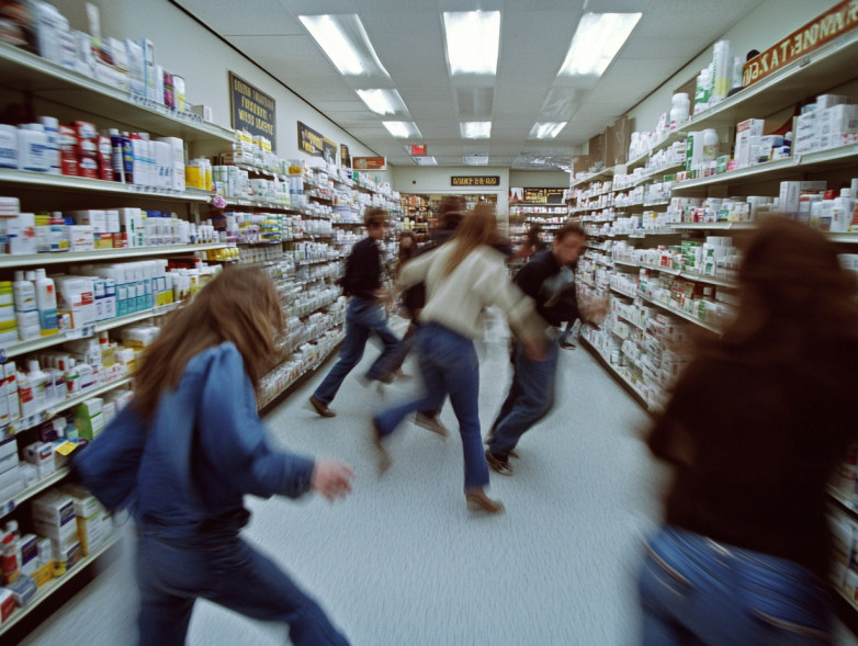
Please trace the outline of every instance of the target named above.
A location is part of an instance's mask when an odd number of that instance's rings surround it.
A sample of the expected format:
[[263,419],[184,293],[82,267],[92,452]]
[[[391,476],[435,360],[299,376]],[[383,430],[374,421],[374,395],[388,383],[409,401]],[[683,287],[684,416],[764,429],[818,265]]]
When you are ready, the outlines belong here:
[[[86,2],[52,0],[52,3],[68,18],[72,29],[90,31]],[[298,149],[298,121],[336,143],[338,150],[340,144],[346,144],[352,157],[375,156],[373,150],[339,128],[168,0],[101,0],[93,3],[101,12],[102,36],[149,38],[155,44],[156,61],[167,71],[184,78],[188,102],[210,105],[217,125],[232,128],[228,72],[233,71],[276,102],[274,145],[279,157],[304,159],[306,162],[312,159]],[[387,172],[373,171],[371,174],[379,181],[390,181]]]

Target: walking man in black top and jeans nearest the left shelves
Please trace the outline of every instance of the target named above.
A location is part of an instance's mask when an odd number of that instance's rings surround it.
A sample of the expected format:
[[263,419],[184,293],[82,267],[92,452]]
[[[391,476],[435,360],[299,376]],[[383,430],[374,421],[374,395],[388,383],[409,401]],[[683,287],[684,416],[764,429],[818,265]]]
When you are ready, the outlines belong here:
[[384,316],[382,286],[382,257],[377,241],[384,238],[387,212],[368,208],[363,216],[368,237],[354,245],[346,261],[342,291],[350,296],[346,311],[346,339],[337,363],[309,398],[313,408],[323,417],[334,417],[328,405],[337,396],[342,381],[363,356],[366,340],[376,333],[384,343],[384,351],[370,367],[366,378],[385,381],[384,366],[399,340],[387,327]]

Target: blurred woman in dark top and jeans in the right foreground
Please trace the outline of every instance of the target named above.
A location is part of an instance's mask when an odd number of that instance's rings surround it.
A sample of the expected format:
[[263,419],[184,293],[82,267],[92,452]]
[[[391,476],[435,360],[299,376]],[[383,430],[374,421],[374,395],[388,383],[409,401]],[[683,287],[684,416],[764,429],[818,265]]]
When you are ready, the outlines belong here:
[[856,283],[825,236],[763,222],[740,306],[647,437],[673,469],[640,576],[643,645],[831,643],[826,483],[856,439]]

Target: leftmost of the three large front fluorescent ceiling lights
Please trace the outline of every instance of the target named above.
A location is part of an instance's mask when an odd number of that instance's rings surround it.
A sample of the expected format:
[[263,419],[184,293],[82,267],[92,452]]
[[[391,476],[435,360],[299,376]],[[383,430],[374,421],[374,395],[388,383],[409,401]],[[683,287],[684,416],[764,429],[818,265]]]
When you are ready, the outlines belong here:
[[358,14],[298,15],[330,61],[343,76],[390,77]]

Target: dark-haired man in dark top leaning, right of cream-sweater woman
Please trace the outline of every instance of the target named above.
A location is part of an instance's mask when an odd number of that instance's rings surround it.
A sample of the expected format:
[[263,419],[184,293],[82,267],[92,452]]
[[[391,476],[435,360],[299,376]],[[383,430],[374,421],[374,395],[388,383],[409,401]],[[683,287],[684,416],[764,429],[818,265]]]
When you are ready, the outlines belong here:
[[[583,304],[579,310],[575,294],[574,267],[584,252],[586,235],[578,225],[557,229],[551,248],[537,253],[522,267],[515,283],[535,301],[537,311],[549,326],[565,320],[600,318],[606,305]],[[554,405],[554,377],[557,367],[558,339],[540,359],[529,358],[516,342],[512,354],[512,384],[495,423],[486,438],[488,466],[501,475],[512,475],[509,455],[519,439],[541,420]]]

